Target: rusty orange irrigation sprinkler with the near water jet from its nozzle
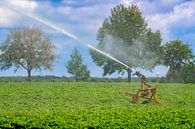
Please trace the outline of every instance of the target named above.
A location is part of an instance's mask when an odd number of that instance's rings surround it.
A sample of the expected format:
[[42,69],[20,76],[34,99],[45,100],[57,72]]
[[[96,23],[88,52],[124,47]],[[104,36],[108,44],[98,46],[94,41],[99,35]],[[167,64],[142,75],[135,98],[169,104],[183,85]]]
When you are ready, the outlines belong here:
[[133,73],[133,75],[136,75],[140,78],[141,80],[141,88],[138,89],[138,91],[135,94],[131,94],[129,92],[126,92],[125,95],[126,96],[132,96],[131,102],[132,103],[136,103],[139,99],[143,98],[144,101],[142,102],[143,104],[146,103],[150,103],[150,102],[154,102],[156,104],[159,104],[159,100],[156,97],[156,88],[151,86],[150,84],[148,84],[148,79],[146,78],[146,76],[138,71],[135,71],[133,68],[131,68],[130,66],[126,65],[125,63],[121,62],[120,60],[112,57],[111,55],[109,55],[108,53],[105,53],[91,45],[88,44],[88,47],[108,58],[110,58],[111,60],[125,66],[127,69],[130,69]]

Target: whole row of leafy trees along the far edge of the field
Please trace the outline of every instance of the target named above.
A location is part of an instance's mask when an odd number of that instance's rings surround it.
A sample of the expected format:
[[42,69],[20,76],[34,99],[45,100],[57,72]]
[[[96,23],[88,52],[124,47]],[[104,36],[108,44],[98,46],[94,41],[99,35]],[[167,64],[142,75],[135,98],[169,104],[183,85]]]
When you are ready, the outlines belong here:
[[[153,32],[147,26],[139,8],[135,5],[117,5],[111,10],[97,33],[97,48],[109,53],[132,68],[152,70],[157,65],[169,66],[167,77],[171,81],[193,81],[195,61],[192,49],[181,40],[173,40],[162,45],[160,31]],[[14,67],[28,72],[30,80],[33,69],[51,69],[55,61],[55,46],[50,36],[38,28],[13,30],[0,46],[0,70]],[[90,51],[93,61],[103,69],[103,75],[127,71],[131,80],[132,71],[124,66]],[[75,80],[90,76],[87,65],[75,48],[66,63],[68,72]]]

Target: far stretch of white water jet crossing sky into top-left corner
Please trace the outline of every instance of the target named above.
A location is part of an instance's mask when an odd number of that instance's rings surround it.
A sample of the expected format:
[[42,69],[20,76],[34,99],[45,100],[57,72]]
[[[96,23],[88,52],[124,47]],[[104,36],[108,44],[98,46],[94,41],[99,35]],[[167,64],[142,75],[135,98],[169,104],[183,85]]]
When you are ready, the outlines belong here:
[[19,14],[21,14],[21,15],[24,15],[24,16],[27,16],[27,17],[29,17],[29,18],[32,18],[32,19],[34,19],[34,20],[36,20],[36,21],[38,21],[38,22],[40,22],[40,23],[42,23],[42,24],[44,24],[44,25],[46,25],[46,26],[48,26],[48,27],[50,27],[50,28],[52,28],[52,29],[54,29],[54,30],[56,30],[56,31],[58,31],[58,32],[60,32],[60,33],[62,33],[62,34],[64,34],[64,35],[66,35],[66,36],[68,36],[68,37],[70,37],[70,38],[73,38],[74,40],[78,40],[78,38],[77,38],[76,35],[71,34],[71,33],[67,32],[67,31],[64,30],[64,29],[61,29],[61,28],[59,28],[59,27],[57,27],[57,26],[51,24],[51,23],[48,22],[47,20],[43,20],[43,19],[39,18],[39,17],[36,16],[36,15],[33,15],[33,14],[31,14],[31,13],[22,11],[22,10],[20,10],[19,8],[16,8],[16,7],[14,7],[13,5],[8,4],[8,3],[6,3],[6,2],[4,2],[4,3],[1,2],[1,5],[3,5],[4,7],[7,7],[8,9],[10,9],[10,10],[12,10],[12,11],[14,11],[14,12],[17,12],[17,13],[19,13]]

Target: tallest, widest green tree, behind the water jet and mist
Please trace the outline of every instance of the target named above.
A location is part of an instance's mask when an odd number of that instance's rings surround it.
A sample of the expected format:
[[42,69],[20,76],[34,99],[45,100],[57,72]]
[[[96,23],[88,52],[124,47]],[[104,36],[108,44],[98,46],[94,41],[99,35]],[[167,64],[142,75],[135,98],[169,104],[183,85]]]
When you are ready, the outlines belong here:
[[[130,67],[152,69],[157,65],[161,44],[160,32],[152,32],[135,5],[117,5],[111,10],[97,33],[100,50],[109,53]],[[131,81],[131,70],[120,64],[90,51],[93,61],[104,70],[103,75],[127,71]]]

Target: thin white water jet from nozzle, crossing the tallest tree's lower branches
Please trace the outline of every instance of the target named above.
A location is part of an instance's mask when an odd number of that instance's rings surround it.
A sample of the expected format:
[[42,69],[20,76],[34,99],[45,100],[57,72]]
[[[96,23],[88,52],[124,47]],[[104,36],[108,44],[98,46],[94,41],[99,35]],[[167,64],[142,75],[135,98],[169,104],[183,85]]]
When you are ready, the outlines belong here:
[[123,62],[117,60],[116,58],[110,56],[109,54],[107,54],[107,53],[105,53],[105,52],[103,52],[103,51],[101,51],[101,50],[99,50],[99,49],[97,49],[97,48],[95,48],[95,47],[93,47],[93,46],[91,46],[91,45],[89,45],[89,44],[88,44],[88,47],[91,48],[92,50],[94,50],[94,51],[96,51],[96,52],[98,52],[98,53],[101,53],[102,55],[104,55],[104,56],[106,56],[106,57],[108,57],[108,58],[110,58],[110,59],[112,59],[112,60],[118,62],[119,64],[125,66],[126,68],[131,69],[132,71],[135,71],[133,68],[131,68],[131,67],[129,67],[128,65],[124,64]]

